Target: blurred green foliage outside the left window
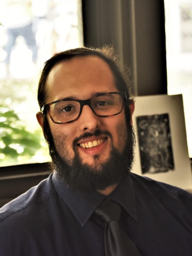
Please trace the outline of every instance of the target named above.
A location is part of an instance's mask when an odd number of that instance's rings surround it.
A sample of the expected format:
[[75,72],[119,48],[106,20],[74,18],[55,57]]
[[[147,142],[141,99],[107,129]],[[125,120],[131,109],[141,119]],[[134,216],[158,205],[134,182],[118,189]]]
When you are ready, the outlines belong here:
[[[14,110],[0,105],[0,154],[7,160],[31,157],[41,149],[40,131],[28,132]],[[3,154],[3,155],[2,155]]]

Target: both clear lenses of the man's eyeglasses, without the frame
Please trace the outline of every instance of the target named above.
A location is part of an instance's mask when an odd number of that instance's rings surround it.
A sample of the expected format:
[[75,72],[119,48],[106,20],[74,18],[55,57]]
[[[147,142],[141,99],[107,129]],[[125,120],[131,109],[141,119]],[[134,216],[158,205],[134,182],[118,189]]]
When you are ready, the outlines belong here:
[[[99,116],[115,115],[122,109],[122,98],[119,94],[105,94],[91,100],[91,107]],[[60,101],[50,105],[50,115],[54,122],[70,122],[78,118],[81,104],[78,101]]]

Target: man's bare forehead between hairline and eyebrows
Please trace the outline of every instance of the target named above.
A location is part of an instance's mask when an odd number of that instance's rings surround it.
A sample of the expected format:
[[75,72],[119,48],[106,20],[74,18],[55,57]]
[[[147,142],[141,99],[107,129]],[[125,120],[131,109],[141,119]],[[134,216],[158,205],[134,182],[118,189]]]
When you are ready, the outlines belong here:
[[61,61],[46,82],[46,103],[65,97],[87,99],[96,92],[118,91],[114,75],[100,57],[90,55]]

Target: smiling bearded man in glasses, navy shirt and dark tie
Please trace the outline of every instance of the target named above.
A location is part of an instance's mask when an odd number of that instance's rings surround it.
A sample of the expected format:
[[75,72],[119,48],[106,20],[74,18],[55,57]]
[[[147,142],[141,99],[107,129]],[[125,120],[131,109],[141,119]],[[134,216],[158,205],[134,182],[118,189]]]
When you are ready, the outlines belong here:
[[0,255],[122,255],[116,238],[108,253],[96,215],[110,201],[121,207],[119,226],[137,251],[123,255],[191,255],[192,195],[130,172],[134,101],[112,50],[54,55],[38,102],[54,173],[1,208]]

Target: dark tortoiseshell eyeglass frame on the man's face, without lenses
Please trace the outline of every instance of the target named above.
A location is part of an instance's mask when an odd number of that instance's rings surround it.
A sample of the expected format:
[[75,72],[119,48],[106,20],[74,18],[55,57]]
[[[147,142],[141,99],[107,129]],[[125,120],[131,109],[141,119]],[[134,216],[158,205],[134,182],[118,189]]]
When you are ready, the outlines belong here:
[[[66,100],[66,99],[61,99],[61,100],[53,101],[53,102],[44,104],[40,111],[41,111],[43,114],[46,114],[46,111],[47,111],[48,114],[49,114],[49,116],[50,116],[50,118],[51,118],[51,120],[52,120],[55,124],[67,124],[67,123],[70,123],[70,122],[73,122],[73,121],[77,120],[77,119],[80,117],[80,115],[81,115],[82,108],[83,108],[84,105],[88,105],[97,117],[111,117],[111,116],[113,116],[113,115],[118,115],[118,114],[120,114],[120,113],[122,112],[122,109],[123,109],[123,101],[122,101],[121,110],[120,110],[118,113],[116,113],[116,114],[112,114],[112,115],[98,115],[97,113],[95,113],[95,111],[93,110],[93,108],[92,108],[92,106],[91,106],[91,101],[92,101],[92,99],[94,99],[94,98],[96,98],[96,97],[100,97],[100,96],[102,96],[102,95],[106,95],[106,94],[118,94],[118,95],[120,95],[120,96],[122,97],[122,100],[125,99],[126,101],[128,101],[128,97],[127,97],[127,93],[126,93],[126,92],[105,92],[105,93],[99,94],[98,96],[94,96],[94,97],[92,97],[92,98],[90,98],[90,99],[88,99],[88,100],[73,100],[73,99]],[[71,121],[68,121],[68,122],[55,122],[55,121],[53,120],[53,117],[51,116],[51,112],[50,112],[50,106],[51,106],[52,104],[54,104],[54,103],[61,102],[61,101],[77,101],[77,102],[80,103],[80,112],[79,112],[77,118],[75,118],[75,119],[73,119],[73,120],[71,120]]]

